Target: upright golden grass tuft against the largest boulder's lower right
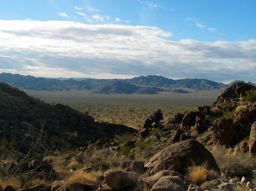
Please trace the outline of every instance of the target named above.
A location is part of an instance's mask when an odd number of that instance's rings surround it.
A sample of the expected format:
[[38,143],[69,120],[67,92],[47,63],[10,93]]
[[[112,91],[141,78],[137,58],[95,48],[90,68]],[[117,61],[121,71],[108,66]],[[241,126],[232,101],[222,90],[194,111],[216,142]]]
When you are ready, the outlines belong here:
[[207,170],[206,164],[202,164],[201,166],[193,166],[193,167],[190,167],[188,170],[189,170],[189,175],[188,175],[189,179],[195,185],[202,184],[208,176],[208,170]]

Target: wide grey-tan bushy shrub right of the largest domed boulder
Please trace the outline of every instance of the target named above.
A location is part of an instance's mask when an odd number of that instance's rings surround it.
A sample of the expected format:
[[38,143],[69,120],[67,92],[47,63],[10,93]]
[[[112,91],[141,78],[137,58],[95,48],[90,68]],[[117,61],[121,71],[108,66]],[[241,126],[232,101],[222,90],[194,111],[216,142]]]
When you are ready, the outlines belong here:
[[235,156],[233,154],[227,154],[227,150],[221,147],[214,147],[211,153],[220,170],[231,177],[242,177],[256,169],[255,157],[248,153],[239,153]]

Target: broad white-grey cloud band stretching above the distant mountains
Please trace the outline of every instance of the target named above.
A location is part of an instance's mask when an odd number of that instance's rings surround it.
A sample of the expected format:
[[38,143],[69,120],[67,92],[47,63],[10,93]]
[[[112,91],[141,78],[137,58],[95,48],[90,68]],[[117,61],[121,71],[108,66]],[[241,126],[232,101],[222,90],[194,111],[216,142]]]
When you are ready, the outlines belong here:
[[256,82],[255,39],[171,41],[173,34],[157,27],[71,21],[0,20],[0,26],[0,72]]

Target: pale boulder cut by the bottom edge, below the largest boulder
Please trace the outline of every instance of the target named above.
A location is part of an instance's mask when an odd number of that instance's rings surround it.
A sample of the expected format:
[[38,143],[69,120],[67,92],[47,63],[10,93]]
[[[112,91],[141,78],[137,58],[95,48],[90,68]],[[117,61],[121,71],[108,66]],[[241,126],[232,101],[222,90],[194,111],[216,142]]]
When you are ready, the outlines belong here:
[[162,176],[151,191],[184,191],[184,180],[179,176]]

